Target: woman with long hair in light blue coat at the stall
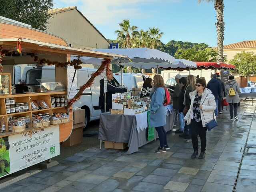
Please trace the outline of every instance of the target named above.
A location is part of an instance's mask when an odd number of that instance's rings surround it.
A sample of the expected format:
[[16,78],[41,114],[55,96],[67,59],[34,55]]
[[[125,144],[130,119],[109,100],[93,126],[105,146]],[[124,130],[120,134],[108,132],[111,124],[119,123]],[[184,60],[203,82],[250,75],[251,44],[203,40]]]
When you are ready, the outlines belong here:
[[166,131],[164,126],[166,125],[166,106],[164,106],[165,90],[164,79],[160,75],[154,76],[154,88],[150,95],[150,124],[156,128],[159,136],[160,146],[156,153],[166,152],[170,149],[167,144]]

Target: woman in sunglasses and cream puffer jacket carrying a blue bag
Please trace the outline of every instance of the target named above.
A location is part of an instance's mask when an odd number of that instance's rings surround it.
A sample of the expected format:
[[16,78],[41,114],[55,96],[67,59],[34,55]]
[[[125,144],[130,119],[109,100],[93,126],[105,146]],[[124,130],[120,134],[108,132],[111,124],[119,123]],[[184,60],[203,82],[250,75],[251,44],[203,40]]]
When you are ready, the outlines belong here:
[[201,141],[201,153],[199,159],[205,157],[206,150],[206,124],[215,119],[214,110],[216,109],[215,97],[212,92],[206,88],[206,80],[199,78],[196,80],[196,90],[190,92],[191,104],[188,113],[185,116],[187,124],[191,124],[191,138],[194,153],[191,158],[198,155],[198,135]]

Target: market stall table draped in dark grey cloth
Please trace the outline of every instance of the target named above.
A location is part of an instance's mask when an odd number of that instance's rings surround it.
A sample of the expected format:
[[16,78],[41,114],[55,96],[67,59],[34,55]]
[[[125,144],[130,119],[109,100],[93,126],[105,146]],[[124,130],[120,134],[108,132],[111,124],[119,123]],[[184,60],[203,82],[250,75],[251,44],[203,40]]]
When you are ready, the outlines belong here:
[[[166,126],[164,126],[166,132],[172,130],[176,117],[176,111],[172,105],[167,106],[167,111]],[[128,143],[127,154],[132,154],[137,152],[139,147],[150,142],[147,140],[148,129],[143,127],[144,122],[147,126],[147,116],[143,113],[136,115],[102,113],[100,114],[99,140]],[[158,134],[154,129],[154,139],[156,138]]]

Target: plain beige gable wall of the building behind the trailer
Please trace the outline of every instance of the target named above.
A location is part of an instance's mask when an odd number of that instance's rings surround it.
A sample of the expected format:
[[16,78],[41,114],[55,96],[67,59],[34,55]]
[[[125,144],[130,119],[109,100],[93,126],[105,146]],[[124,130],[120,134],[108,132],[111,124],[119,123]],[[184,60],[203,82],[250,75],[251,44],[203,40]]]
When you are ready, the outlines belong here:
[[75,48],[108,48],[108,41],[77,10],[53,14],[48,32],[64,38]]

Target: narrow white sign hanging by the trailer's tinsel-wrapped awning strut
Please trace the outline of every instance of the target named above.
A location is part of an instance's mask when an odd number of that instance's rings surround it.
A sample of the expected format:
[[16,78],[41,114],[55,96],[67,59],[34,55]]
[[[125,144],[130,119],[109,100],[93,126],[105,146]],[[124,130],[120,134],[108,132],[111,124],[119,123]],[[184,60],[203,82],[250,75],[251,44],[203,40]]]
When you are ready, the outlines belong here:
[[[73,66],[68,66],[68,69],[67,69],[67,74],[68,74],[68,94],[69,94],[68,99],[74,98],[74,96],[78,92],[78,90],[76,90],[77,89],[77,72],[76,72],[76,75],[75,75],[75,78],[74,78],[74,82],[72,84],[74,73],[75,73],[74,67]],[[72,85],[72,87],[71,87],[71,85]]]

